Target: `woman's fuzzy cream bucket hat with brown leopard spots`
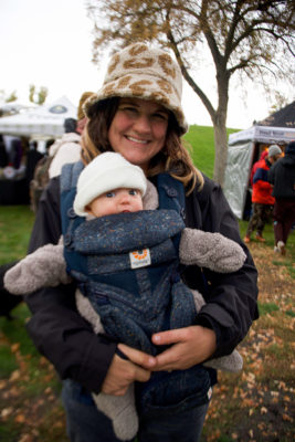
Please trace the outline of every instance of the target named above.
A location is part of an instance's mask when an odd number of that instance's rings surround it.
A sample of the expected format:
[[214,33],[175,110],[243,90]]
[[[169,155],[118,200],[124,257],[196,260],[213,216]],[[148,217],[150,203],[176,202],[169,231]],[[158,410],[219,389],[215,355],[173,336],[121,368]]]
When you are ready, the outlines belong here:
[[134,43],[110,57],[103,86],[87,99],[84,110],[89,117],[94,104],[110,97],[150,99],[172,110],[185,134],[188,124],[181,95],[181,71],[172,57],[160,49]]

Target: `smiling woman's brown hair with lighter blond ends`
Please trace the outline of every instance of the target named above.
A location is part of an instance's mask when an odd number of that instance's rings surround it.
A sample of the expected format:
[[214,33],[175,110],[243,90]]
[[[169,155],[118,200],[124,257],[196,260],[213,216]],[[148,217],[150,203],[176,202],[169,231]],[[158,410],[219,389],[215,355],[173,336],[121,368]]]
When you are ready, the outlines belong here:
[[[108,140],[108,129],[117,112],[119,97],[106,98],[95,103],[88,110],[88,122],[82,137],[82,158],[91,162],[97,155],[113,151]],[[169,114],[166,143],[164,148],[151,159],[147,176],[169,172],[183,182],[190,193],[196,186],[202,188],[203,177],[193,166],[192,159],[181,143],[181,129],[172,112]]]

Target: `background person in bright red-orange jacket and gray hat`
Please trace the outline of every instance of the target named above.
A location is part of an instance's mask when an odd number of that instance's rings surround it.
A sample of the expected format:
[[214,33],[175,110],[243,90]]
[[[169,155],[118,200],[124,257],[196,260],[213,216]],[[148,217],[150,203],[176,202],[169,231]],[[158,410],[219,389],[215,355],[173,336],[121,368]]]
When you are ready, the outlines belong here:
[[244,238],[245,243],[250,243],[251,234],[254,230],[256,230],[256,240],[260,242],[265,241],[262,232],[267,220],[271,219],[274,206],[274,197],[272,196],[272,187],[267,180],[267,171],[281,155],[281,148],[277,145],[272,145],[268,147],[267,156],[261,159],[256,166],[252,187],[253,213],[247,224]]

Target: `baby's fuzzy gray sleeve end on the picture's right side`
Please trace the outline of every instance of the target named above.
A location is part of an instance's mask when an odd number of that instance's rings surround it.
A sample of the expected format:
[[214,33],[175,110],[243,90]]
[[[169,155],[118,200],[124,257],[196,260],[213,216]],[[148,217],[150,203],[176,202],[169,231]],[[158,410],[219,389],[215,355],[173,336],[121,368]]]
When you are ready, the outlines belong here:
[[241,269],[246,255],[241,245],[220,233],[186,228],[181,234],[179,257],[186,265],[229,273]]

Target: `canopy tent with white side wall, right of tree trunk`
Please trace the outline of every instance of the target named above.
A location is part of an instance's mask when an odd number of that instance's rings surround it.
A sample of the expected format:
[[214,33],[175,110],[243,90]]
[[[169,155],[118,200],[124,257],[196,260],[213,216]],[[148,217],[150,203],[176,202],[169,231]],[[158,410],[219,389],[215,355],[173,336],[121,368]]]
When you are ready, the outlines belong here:
[[247,219],[251,210],[249,178],[252,166],[262,150],[277,144],[285,145],[295,139],[295,102],[270,115],[262,122],[254,122],[249,129],[229,136],[228,161],[225,168],[224,193],[240,219]]

